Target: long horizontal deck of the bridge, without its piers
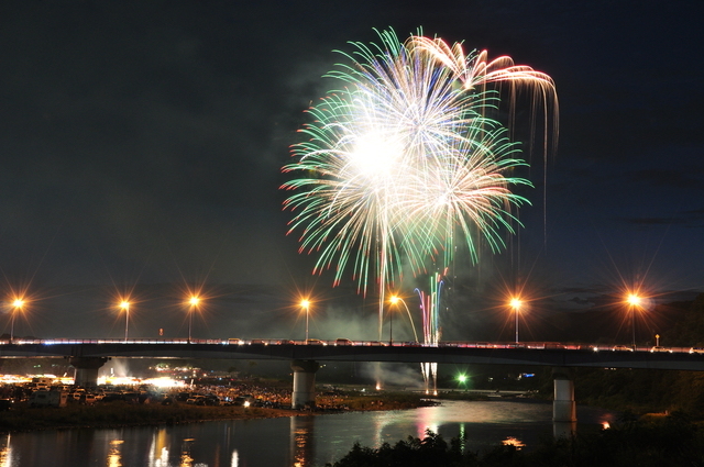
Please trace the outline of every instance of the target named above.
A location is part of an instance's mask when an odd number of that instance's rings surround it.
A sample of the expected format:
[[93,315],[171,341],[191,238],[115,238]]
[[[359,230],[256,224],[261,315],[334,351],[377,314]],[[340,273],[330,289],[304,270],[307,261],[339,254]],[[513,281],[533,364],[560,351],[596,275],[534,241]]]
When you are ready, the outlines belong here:
[[396,362],[704,370],[690,348],[636,348],[557,343],[416,343],[340,341],[43,340],[0,344],[0,357],[221,358],[319,362]]

